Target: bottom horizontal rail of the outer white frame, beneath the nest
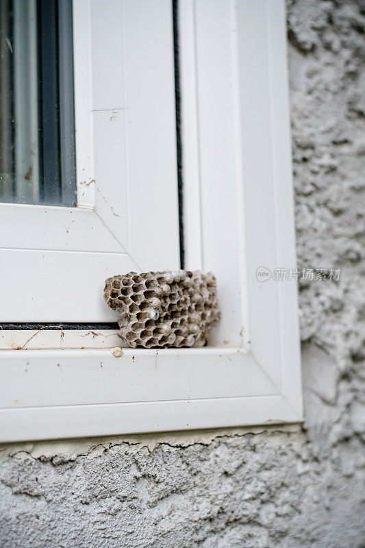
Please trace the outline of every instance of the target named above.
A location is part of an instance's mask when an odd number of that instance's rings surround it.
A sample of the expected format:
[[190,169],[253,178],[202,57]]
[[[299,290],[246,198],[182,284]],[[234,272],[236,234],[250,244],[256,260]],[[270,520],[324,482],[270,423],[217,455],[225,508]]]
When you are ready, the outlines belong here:
[[3,442],[301,421],[238,348],[3,351],[0,373]]

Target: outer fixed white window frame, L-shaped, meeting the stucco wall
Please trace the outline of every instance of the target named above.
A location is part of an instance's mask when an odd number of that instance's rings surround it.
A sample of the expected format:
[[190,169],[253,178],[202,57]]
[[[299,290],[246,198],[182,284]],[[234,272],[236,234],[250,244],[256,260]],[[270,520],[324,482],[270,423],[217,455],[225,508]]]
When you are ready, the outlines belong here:
[[186,266],[216,274],[221,322],[199,349],[4,351],[2,440],[302,420],[297,286],[256,277],[296,264],[284,0],[179,7]]

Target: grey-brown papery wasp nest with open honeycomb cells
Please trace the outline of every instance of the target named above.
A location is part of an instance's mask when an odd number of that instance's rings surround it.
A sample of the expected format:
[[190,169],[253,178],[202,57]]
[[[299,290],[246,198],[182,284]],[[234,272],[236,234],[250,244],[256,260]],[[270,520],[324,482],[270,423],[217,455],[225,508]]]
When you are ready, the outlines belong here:
[[105,280],[104,299],[132,348],[201,347],[219,319],[212,273],[129,272]]

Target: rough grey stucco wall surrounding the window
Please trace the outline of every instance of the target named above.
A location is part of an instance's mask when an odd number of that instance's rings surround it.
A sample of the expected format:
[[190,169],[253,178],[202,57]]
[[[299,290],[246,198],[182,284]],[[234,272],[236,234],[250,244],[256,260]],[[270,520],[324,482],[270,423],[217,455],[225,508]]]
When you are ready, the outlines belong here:
[[364,4],[288,28],[299,266],[342,269],[300,288],[303,429],[4,449],[2,548],[365,546]]

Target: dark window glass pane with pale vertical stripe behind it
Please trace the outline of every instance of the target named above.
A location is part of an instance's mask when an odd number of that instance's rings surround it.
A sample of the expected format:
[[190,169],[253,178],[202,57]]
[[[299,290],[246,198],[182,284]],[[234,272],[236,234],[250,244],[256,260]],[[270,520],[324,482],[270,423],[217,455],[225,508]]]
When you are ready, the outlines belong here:
[[0,201],[75,191],[71,0],[0,0]]

